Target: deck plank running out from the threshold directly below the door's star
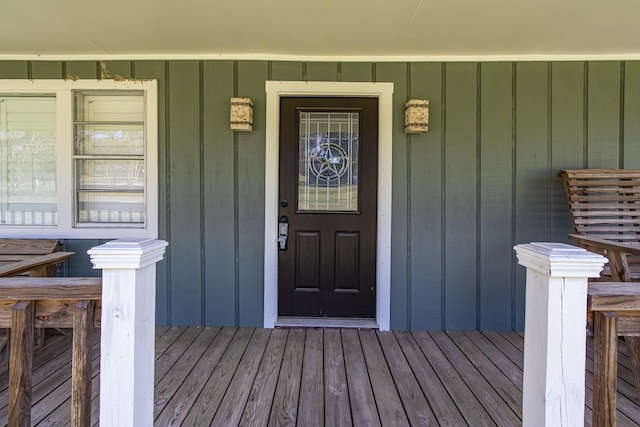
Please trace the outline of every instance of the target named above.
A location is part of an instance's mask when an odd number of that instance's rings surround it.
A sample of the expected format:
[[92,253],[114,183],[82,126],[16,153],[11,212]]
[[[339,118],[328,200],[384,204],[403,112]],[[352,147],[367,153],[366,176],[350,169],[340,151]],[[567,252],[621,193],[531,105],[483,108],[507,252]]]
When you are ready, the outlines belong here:
[[324,332],[324,423],[330,426],[353,423],[342,338],[337,329]]

